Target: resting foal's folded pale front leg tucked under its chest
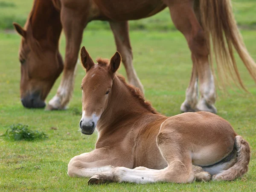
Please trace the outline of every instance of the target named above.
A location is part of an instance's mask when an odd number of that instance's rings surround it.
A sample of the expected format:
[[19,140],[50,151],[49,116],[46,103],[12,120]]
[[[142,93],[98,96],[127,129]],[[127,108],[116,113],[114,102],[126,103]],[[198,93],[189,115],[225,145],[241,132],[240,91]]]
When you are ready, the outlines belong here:
[[99,148],[73,157],[68,164],[67,174],[70,177],[91,177],[99,172],[111,171],[114,166],[124,165],[130,166],[108,149]]

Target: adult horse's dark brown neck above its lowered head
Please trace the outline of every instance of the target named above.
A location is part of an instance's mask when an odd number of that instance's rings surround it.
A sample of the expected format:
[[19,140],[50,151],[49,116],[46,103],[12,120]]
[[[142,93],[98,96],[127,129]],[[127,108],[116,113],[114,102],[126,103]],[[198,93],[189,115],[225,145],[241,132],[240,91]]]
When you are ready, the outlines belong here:
[[35,0],[28,30],[32,30],[33,37],[38,41],[47,41],[58,48],[61,34],[60,13],[55,9],[52,0]]

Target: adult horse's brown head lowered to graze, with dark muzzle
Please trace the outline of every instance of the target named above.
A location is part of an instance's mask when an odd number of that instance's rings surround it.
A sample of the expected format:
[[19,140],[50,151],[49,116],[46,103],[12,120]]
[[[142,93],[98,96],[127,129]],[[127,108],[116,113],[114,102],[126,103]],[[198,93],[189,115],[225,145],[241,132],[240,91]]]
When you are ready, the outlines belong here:
[[17,23],[14,27],[22,36],[19,49],[21,102],[26,108],[44,108],[44,100],[63,69],[58,44],[52,46],[51,39],[35,38],[29,24],[26,30]]

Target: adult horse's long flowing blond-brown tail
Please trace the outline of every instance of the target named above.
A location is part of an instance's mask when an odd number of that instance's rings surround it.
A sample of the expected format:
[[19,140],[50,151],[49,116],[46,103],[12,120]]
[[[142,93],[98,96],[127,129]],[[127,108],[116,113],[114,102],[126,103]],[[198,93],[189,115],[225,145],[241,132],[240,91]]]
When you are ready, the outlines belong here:
[[[240,85],[246,90],[239,75],[239,70],[234,58],[233,47],[238,52],[241,60],[255,82],[256,63],[249,55],[236,25],[231,0],[199,0],[198,3],[200,6],[200,18],[198,19],[207,35],[207,44],[210,52],[209,62],[213,73],[211,41],[213,52],[215,54],[215,61],[217,63],[218,78],[221,80],[221,84],[225,88],[224,83],[229,84],[231,76],[233,82],[235,82],[238,87]],[[198,4],[195,5],[198,6]],[[230,76],[227,75],[227,72],[230,73]],[[239,84],[237,84],[236,80],[239,81]]]

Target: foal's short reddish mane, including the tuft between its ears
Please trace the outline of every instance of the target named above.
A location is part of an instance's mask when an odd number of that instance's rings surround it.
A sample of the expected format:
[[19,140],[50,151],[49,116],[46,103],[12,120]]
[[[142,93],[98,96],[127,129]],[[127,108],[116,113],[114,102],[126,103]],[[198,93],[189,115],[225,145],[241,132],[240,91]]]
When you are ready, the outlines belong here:
[[[99,65],[101,66],[108,66],[109,64],[109,60],[108,59],[104,59],[104,58],[97,58],[96,61],[98,62]],[[117,78],[125,85],[125,87],[128,88],[128,90],[132,93],[132,95],[138,99],[141,103],[141,105],[143,105],[144,108],[146,108],[148,111],[150,111],[151,113],[154,114],[160,114],[158,113],[151,105],[150,102],[145,101],[145,98],[143,96],[143,93],[140,91],[139,88],[134,87],[133,85],[130,85],[128,83],[126,83],[124,76],[117,74],[116,75]]]

